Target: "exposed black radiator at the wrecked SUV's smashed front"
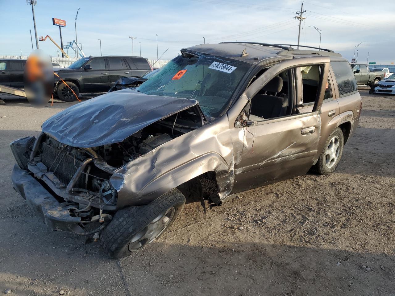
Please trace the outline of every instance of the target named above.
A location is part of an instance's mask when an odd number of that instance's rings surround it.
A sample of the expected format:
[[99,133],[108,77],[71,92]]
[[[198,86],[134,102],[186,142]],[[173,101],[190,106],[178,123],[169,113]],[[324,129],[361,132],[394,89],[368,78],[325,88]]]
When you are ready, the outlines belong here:
[[[43,145],[42,162],[50,172],[53,172],[64,185],[70,183],[75,172],[81,165],[82,161],[68,154],[65,150],[61,151],[49,144]],[[74,187],[85,188],[85,174],[81,174]]]

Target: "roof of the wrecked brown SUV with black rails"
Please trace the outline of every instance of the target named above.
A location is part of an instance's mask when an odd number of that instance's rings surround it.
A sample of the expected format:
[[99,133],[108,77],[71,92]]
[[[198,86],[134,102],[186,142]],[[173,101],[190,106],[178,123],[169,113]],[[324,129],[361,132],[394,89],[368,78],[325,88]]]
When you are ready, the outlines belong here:
[[[262,45],[263,44],[263,45]],[[243,50],[246,49],[248,55],[243,54]],[[276,45],[267,43],[243,43],[243,42],[229,42],[229,43],[218,43],[218,44],[200,44],[186,48],[186,50],[202,52],[205,54],[213,54],[216,56],[223,56],[224,58],[230,58],[233,60],[240,60],[250,64],[256,63],[259,60],[271,58],[275,56],[285,55],[322,55],[322,56],[337,56],[341,57],[341,54],[329,51],[329,50],[302,50],[293,49],[287,45]]]

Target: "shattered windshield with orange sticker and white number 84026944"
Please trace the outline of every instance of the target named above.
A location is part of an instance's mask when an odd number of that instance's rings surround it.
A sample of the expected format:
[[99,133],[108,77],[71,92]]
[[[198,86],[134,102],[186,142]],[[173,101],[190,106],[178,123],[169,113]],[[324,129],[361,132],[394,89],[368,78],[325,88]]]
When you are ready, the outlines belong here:
[[251,65],[212,55],[186,55],[168,62],[137,91],[148,95],[196,99],[206,116],[219,116]]

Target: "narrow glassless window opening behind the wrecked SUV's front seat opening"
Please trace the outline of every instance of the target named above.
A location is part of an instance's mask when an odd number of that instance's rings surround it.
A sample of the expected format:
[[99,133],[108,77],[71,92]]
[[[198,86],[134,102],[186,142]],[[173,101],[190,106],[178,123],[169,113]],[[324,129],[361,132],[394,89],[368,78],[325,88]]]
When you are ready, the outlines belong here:
[[314,103],[320,88],[320,66],[300,67],[302,75],[302,103]]

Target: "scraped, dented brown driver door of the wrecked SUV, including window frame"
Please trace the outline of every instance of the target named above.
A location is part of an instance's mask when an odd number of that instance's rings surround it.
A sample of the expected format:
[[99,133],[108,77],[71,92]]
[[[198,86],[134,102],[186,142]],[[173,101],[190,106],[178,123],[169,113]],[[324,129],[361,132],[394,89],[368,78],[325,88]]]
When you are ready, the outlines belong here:
[[[319,72],[317,71],[318,86],[315,90],[306,90],[316,92],[314,107],[312,111],[299,111],[300,106],[297,106],[296,102],[301,101],[303,85],[297,79],[300,77],[297,71],[310,66],[320,69]],[[233,106],[232,112],[229,112],[235,173],[232,193],[240,193],[303,175],[310,169],[320,141],[320,109],[324,99],[328,69],[329,57],[285,60],[271,66],[246,89],[237,104]],[[291,73],[288,75],[288,101],[292,102],[289,103],[292,106],[287,107],[290,108],[287,114],[261,119],[250,114],[253,110],[250,104],[255,96],[262,96],[261,92],[266,84],[271,84],[271,81],[284,71]],[[311,93],[308,95],[312,96]],[[266,94],[263,95],[265,96],[270,98]],[[263,100],[262,103],[265,104],[265,101]],[[235,107],[240,108],[238,112],[235,111],[237,110],[234,109]]]

